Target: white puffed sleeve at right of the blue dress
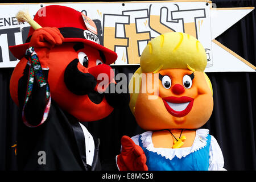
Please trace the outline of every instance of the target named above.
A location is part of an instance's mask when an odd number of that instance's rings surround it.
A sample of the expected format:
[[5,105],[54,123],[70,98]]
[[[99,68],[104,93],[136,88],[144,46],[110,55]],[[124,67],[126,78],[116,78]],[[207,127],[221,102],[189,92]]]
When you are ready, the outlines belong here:
[[209,157],[209,171],[226,171],[221,148],[213,136],[210,140]]

